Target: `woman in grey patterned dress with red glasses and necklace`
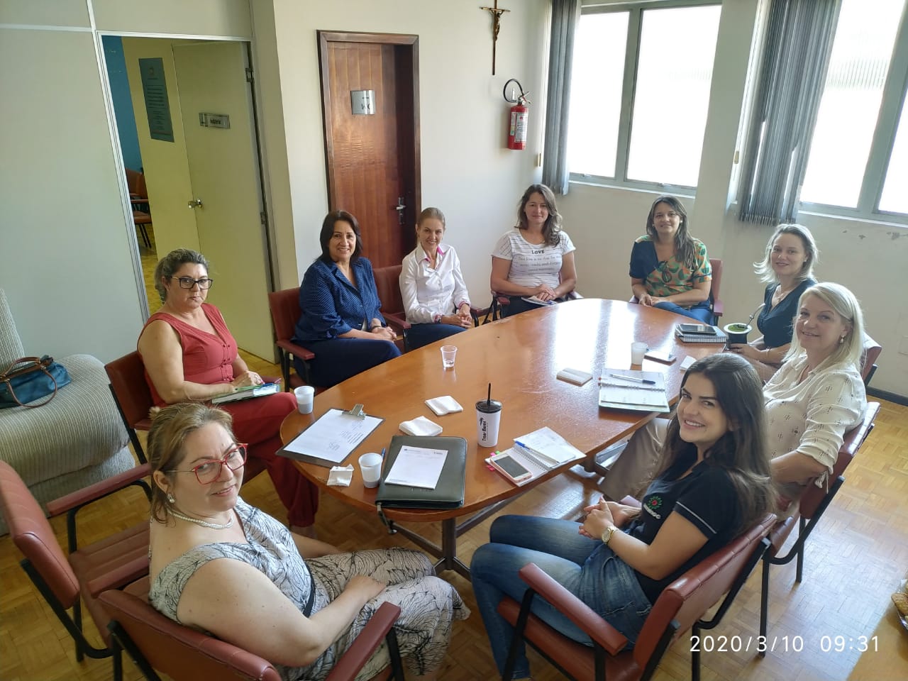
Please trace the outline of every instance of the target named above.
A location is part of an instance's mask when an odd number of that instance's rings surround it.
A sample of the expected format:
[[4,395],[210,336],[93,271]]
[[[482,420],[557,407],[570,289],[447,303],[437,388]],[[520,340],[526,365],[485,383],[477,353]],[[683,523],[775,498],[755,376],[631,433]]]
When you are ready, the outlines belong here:
[[[153,469],[149,600],[165,616],[271,661],[285,679],[322,679],[384,601],[410,673],[434,678],[458,592],[417,551],[340,553],[293,535],[238,496],[245,450],[230,415],[173,405],[148,438]],[[388,664],[385,646],[357,678]]]

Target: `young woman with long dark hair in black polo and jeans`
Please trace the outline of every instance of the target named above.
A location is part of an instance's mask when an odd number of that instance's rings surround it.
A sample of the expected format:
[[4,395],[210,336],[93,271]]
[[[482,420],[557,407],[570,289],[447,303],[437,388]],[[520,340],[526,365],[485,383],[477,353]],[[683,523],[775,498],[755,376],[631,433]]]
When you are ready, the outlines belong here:
[[[763,435],[760,380],[745,360],[722,353],[691,365],[662,449],[662,471],[642,509],[602,499],[582,525],[558,518],[500,516],[473,554],[470,578],[492,655],[503,672],[513,628],[503,596],[522,599],[518,570],[536,563],[620,631],[633,647],[669,584],[764,518],[775,504]],[[542,598],[533,614],[578,643],[587,634]],[[522,646],[521,646],[522,647]],[[512,678],[529,677],[518,654]]]

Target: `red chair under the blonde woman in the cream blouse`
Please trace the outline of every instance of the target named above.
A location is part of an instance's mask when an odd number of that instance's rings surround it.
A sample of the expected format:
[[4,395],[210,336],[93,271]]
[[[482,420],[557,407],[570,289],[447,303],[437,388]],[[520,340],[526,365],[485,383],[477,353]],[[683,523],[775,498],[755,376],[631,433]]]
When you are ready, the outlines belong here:
[[[879,402],[868,402],[867,413],[864,414],[864,421],[857,428],[845,433],[842,447],[839,449],[838,459],[835,461],[833,472],[830,475],[828,491],[819,488],[813,482],[809,483],[804,489],[801,498],[792,500],[790,503],[795,505],[794,512],[787,518],[779,520],[769,533],[770,548],[763,557],[763,580],[760,590],[760,636],[766,636],[767,619],[769,617],[769,568],[773,565],[786,565],[797,558],[795,570],[795,582],[800,583],[804,576],[804,544],[810,533],[814,531],[816,524],[823,517],[823,513],[832,502],[836,492],[844,484],[844,469],[857,455],[858,449],[864,444],[864,440],[873,430],[873,421],[880,412]],[[790,508],[788,509],[791,510]],[[779,556],[779,551],[785,545],[785,540],[795,528],[795,522],[798,525],[798,535],[795,544],[788,550],[785,556]],[[760,652],[760,656],[765,656],[765,650]]]

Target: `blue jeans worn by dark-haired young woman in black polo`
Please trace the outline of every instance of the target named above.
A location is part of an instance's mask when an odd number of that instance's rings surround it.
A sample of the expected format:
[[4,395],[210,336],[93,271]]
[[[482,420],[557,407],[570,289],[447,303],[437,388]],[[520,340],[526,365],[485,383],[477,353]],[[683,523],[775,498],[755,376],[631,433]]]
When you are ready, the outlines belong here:
[[[501,516],[489,530],[489,544],[473,554],[470,579],[479,614],[489,635],[498,672],[504,671],[513,627],[498,615],[498,602],[509,596],[520,602],[527,584],[518,570],[536,563],[559,584],[624,634],[633,646],[652,607],[633,568],[597,539],[577,533],[570,520]],[[580,628],[541,597],[533,599],[533,614],[565,636],[592,646]],[[529,676],[529,662],[520,646],[514,678]]]

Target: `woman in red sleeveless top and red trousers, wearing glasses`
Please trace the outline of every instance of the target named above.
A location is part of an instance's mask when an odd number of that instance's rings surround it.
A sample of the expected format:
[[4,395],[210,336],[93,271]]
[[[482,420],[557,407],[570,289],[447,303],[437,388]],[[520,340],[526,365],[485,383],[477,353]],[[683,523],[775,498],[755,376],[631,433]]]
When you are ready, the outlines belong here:
[[[242,360],[236,341],[221,311],[205,302],[212,279],[202,253],[177,249],[154,269],[154,287],[163,305],[145,323],[138,349],[145,364],[145,380],[154,403],[207,401],[264,382]],[[274,488],[287,508],[291,529],[312,534],[318,489],[293,466],[277,456],[281,449],[281,421],[296,409],[289,392],[222,406],[231,412],[233,429],[249,442],[249,456],[262,459]]]

